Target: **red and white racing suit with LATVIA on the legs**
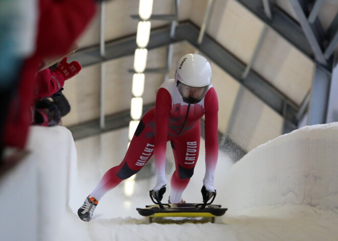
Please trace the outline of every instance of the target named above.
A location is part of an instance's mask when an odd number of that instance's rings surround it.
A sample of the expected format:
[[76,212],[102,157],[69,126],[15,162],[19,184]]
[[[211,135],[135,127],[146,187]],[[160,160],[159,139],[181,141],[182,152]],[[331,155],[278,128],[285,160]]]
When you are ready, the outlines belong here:
[[90,194],[100,200],[121,181],[137,173],[153,156],[157,185],[166,184],[164,165],[166,142],[171,141],[176,170],[171,179],[171,202],[181,201],[183,190],[193,176],[200,147],[200,119],[205,115],[205,165],[203,184],[213,191],[214,172],[218,159],[218,99],[210,84],[205,97],[197,104],[183,102],[175,81],[161,84],[156,105],[142,117],[126,155],[120,165],[108,170]]

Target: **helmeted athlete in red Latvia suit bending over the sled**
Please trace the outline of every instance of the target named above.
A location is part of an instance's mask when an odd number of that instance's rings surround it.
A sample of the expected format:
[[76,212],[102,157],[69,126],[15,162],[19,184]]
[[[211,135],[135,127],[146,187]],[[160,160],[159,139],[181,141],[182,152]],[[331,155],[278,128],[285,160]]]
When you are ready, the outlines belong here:
[[[200,119],[205,116],[205,176],[202,194],[215,193],[214,172],[218,159],[218,99],[211,84],[210,63],[201,55],[187,54],[178,62],[175,79],[161,84],[155,107],[142,117],[120,165],[105,172],[83,205],[78,216],[90,221],[93,212],[109,190],[137,173],[154,154],[157,182],[152,190],[162,199],[165,192],[166,142],[173,149],[176,169],[171,178],[168,203],[184,202],[182,193],[193,176],[200,147]],[[203,193],[204,190],[204,193]]]

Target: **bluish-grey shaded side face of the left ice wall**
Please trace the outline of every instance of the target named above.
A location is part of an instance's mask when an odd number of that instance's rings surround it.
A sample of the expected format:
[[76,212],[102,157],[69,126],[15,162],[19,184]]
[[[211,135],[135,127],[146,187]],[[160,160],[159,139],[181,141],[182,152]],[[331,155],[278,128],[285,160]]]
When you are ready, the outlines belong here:
[[1,240],[38,240],[37,162],[18,163],[0,179]]

